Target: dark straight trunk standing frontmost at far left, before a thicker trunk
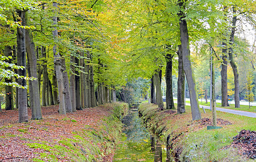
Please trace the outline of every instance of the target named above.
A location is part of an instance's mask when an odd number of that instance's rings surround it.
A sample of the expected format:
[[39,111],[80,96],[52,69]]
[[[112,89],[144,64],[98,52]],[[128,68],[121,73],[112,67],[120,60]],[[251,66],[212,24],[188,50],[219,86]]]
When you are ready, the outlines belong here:
[[[21,18],[22,25],[25,26],[25,12],[17,11]],[[25,29],[17,28],[17,65],[24,66],[23,69],[18,69],[19,76],[26,76],[26,45],[25,45]],[[26,79],[19,78],[18,84],[26,86]],[[18,107],[19,107],[19,123],[28,122],[28,103],[26,89],[18,88]]]

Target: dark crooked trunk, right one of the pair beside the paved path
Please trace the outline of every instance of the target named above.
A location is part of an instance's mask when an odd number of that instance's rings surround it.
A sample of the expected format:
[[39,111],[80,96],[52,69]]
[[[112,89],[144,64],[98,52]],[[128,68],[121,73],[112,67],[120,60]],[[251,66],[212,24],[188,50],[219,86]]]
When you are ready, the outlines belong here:
[[[233,6],[233,12],[235,14],[235,7]],[[234,62],[233,58],[233,48],[232,45],[234,43],[234,34],[235,34],[235,25],[237,23],[237,16],[233,16],[233,22],[232,22],[232,30],[231,30],[231,36],[230,36],[230,45],[231,47],[229,48],[228,56],[230,58],[230,64],[233,69],[233,74],[234,74],[234,86],[235,86],[235,91],[234,91],[234,100],[235,100],[235,107],[240,107],[240,102],[239,102],[239,75],[238,75],[238,69],[237,69],[237,64]]]

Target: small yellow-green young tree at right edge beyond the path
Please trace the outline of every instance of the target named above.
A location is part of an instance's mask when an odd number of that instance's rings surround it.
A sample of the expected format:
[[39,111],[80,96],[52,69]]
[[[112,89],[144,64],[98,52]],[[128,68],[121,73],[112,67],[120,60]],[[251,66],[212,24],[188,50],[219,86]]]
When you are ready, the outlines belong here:
[[253,71],[252,70],[248,71],[247,77],[246,77],[247,83],[246,83],[245,88],[246,88],[247,92],[245,95],[246,96],[245,99],[249,102],[249,109],[251,109],[250,103],[254,101],[254,94],[252,92],[252,89],[254,87],[254,84],[252,84],[253,80],[254,80]]

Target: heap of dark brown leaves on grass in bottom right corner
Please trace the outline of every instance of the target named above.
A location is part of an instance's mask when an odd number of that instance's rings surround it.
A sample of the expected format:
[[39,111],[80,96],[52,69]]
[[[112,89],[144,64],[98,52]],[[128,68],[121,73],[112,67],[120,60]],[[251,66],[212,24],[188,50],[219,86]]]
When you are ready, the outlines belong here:
[[248,158],[256,159],[256,131],[240,131],[233,137],[231,146],[237,147],[239,152]]

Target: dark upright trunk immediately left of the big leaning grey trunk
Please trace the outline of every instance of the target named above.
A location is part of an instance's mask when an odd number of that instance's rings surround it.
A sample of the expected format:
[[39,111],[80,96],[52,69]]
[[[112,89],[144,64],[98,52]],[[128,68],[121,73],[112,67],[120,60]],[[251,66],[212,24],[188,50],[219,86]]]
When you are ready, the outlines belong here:
[[181,45],[178,50],[179,65],[178,65],[178,92],[177,92],[177,113],[185,113],[185,73],[183,70],[183,56]]

